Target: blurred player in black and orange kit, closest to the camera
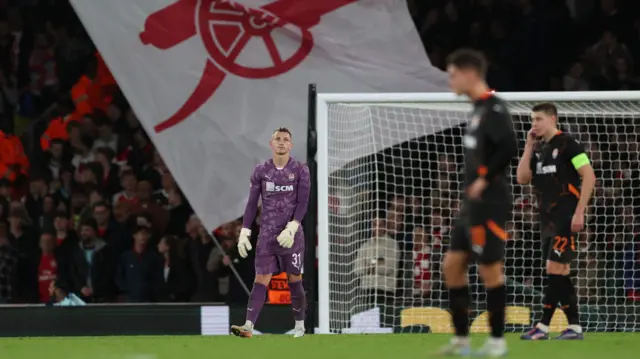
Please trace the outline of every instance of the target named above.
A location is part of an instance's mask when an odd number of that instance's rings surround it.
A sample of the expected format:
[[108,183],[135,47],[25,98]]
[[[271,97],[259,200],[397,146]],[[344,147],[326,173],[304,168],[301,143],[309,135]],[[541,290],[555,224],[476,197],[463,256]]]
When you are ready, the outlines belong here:
[[518,153],[511,115],[505,103],[493,95],[485,82],[487,62],[473,50],[458,50],[447,61],[449,85],[458,95],[468,96],[473,111],[463,137],[465,148],[465,199],[451,233],[444,258],[445,284],[455,337],[440,351],[442,355],[467,355],[469,339],[468,263],[475,259],[487,288],[487,310],[491,336],[477,355],[505,355],[504,252],[513,198],[509,164]]

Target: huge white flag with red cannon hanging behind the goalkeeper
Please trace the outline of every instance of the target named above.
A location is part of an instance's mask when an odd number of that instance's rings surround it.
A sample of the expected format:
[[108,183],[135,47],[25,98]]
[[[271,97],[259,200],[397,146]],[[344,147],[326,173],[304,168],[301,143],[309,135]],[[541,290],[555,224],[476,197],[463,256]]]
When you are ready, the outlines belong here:
[[71,0],[195,212],[242,214],[275,128],[305,160],[307,85],[442,91],[404,0]]

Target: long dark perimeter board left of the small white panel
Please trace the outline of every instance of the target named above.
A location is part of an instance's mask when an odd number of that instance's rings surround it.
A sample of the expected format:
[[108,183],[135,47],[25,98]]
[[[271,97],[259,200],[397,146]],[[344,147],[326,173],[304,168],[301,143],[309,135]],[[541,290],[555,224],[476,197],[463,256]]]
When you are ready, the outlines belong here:
[[0,337],[200,335],[199,305],[0,307]]

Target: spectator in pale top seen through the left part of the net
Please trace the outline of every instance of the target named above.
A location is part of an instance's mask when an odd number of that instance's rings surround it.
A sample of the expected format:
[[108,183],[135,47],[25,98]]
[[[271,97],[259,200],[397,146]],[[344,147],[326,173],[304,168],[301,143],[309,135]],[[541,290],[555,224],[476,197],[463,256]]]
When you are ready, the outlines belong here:
[[393,298],[396,290],[400,251],[396,240],[388,234],[386,222],[383,216],[373,219],[371,238],[360,247],[354,262],[361,298],[371,303]]

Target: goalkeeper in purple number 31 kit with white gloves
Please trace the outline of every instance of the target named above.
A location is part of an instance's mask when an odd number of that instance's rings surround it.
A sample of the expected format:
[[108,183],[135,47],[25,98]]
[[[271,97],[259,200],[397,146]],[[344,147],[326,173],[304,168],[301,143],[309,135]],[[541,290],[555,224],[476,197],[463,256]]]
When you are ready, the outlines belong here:
[[238,239],[238,252],[246,258],[247,252],[252,249],[249,228],[256,217],[258,200],[262,198],[255,259],[256,279],[247,304],[247,321],[244,325],[232,326],[231,332],[236,336],[251,337],[267,296],[271,276],[286,272],[296,322],[294,337],[298,338],[305,331],[306,298],[302,286],[304,236],[300,223],[309,202],[309,168],[289,156],[293,142],[288,129],[277,129],[271,136],[270,145],[273,159],[257,165],[251,175],[249,201]]

